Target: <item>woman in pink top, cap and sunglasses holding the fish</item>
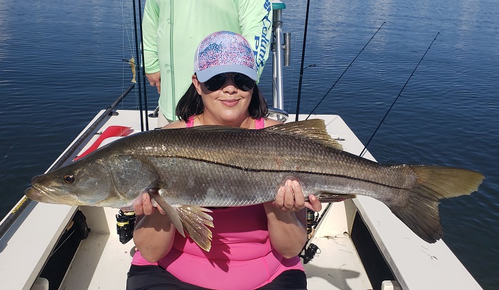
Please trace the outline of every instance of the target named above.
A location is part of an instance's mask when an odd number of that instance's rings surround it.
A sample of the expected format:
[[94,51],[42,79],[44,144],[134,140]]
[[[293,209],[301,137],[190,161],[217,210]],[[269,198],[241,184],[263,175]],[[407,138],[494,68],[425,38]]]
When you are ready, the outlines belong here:
[[[192,85],[176,109],[180,120],[164,129],[280,124],[264,118],[267,107],[255,84],[253,49],[242,36],[210,34],[201,41],[194,64]],[[209,251],[177,232],[165,209],[152,205],[150,194],[141,197],[134,205],[140,216],[134,232],[138,251],[127,289],[306,289],[297,256],[307,238],[305,207],[318,211],[321,203],[313,195],[305,202],[297,181],[281,184],[270,203],[212,208]]]

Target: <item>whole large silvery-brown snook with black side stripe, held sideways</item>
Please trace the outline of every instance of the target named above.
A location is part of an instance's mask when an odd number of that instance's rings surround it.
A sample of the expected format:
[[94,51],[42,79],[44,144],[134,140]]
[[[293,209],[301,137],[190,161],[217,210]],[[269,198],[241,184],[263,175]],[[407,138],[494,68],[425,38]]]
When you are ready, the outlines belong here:
[[275,199],[286,179],[323,202],[356,194],[385,203],[428,243],[442,236],[439,200],[470,194],[484,177],[441,166],[384,165],[341,150],[323,120],[246,130],[196,126],[137,133],[32,179],[34,201],[130,207],[150,192],[174,223],[206,251],[212,219],[206,208]]

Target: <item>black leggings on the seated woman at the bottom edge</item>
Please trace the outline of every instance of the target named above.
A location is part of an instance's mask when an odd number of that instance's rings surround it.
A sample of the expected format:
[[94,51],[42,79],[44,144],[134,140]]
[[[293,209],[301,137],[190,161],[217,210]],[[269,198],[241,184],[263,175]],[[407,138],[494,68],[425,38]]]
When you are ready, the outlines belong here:
[[[241,281],[244,284],[244,281]],[[128,271],[126,290],[159,290],[159,289],[185,289],[185,290],[207,290],[207,288],[191,285],[178,280],[159,266],[137,266],[132,265]],[[277,276],[272,282],[260,287],[259,290],[270,289],[295,289],[306,290],[307,278],[305,272],[300,270],[288,270]]]

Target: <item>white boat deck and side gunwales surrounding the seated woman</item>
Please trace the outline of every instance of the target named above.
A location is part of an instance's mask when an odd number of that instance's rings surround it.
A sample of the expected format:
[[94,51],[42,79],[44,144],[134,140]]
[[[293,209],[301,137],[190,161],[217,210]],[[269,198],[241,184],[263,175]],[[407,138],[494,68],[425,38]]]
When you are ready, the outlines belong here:
[[[121,125],[140,130],[136,111],[118,112],[104,128]],[[336,115],[312,118],[324,119],[329,133],[342,139],[340,143],[345,150],[360,153],[362,144],[341,118]],[[290,120],[294,116],[290,115]],[[150,119],[151,128],[155,122]],[[92,144],[97,136],[89,139]],[[364,157],[372,159],[369,153]],[[371,286],[349,237],[357,208],[402,289],[481,289],[443,241],[432,245],[421,241],[386,206],[368,197],[334,203],[323,217],[311,241],[321,250],[305,265],[308,289],[380,288],[380,285]],[[20,262],[0,263],[3,289],[31,289],[75,210],[65,205],[30,204],[0,241],[0,260]],[[80,210],[91,232],[80,243],[60,289],[125,289],[133,243],[119,242],[117,209],[80,207]]]

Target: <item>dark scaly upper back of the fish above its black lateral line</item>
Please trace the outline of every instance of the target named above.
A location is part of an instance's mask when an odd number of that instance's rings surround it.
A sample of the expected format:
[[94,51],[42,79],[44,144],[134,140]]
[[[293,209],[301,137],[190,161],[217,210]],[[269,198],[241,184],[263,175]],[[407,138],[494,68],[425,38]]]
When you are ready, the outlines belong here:
[[[194,127],[135,135],[128,143],[129,148],[123,149],[133,154],[193,159],[242,170],[313,172],[378,183],[386,183],[385,174],[392,169],[294,135],[265,130],[216,129]],[[388,174],[397,177],[399,171]],[[406,178],[398,175],[401,178],[391,180],[391,185],[404,185]]]

